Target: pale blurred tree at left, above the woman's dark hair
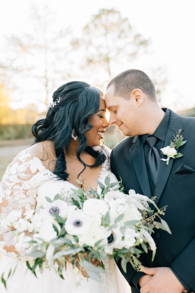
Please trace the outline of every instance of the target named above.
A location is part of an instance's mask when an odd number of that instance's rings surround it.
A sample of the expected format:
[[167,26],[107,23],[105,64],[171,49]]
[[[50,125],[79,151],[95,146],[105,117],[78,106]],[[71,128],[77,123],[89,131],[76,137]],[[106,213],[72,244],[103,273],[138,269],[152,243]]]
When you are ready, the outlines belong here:
[[70,76],[71,30],[55,30],[57,16],[47,7],[43,13],[32,6],[31,13],[32,28],[5,43],[7,56],[6,62],[0,61],[0,77],[9,76],[15,96],[39,92],[39,100],[48,105],[49,94]]

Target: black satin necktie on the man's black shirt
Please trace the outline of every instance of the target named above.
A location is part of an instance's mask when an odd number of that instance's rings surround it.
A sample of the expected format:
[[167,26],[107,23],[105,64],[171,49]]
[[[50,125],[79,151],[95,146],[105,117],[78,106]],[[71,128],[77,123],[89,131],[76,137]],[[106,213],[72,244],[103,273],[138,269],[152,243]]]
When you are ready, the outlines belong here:
[[157,151],[155,147],[157,140],[158,139],[155,136],[149,136],[148,138],[146,138],[146,142],[150,146],[150,150],[146,158],[146,164],[147,164],[148,171],[150,173],[150,177],[152,179],[154,186],[156,186],[158,170],[159,170],[160,161],[161,161],[159,152]]

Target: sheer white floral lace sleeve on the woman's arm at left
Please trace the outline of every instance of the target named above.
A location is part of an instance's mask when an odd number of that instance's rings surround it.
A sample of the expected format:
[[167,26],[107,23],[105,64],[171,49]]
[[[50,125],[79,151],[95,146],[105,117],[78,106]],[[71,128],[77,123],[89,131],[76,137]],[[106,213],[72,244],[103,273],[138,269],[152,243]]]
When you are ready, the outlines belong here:
[[[0,183],[0,214],[9,217],[10,212],[23,214],[36,207],[36,188],[44,180],[51,177],[37,157],[27,151],[20,152],[8,166]],[[11,236],[11,228],[0,225],[0,253],[16,257],[15,241]]]

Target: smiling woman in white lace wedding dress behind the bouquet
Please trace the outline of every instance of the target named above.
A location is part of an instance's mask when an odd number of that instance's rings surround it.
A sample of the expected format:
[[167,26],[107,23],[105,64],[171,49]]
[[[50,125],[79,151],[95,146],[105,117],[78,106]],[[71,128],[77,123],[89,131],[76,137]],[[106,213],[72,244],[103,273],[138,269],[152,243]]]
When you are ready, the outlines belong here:
[[[21,151],[8,166],[0,183],[0,212],[13,210],[24,214],[44,203],[45,196],[52,200],[63,189],[67,197],[71,188],[80,187],[81,176],[87,190],[100,192],[95,179],[104,183],[107,175],[111,182],[117,179],[110,171],[110,150],[99,146],[105,128],[106,105],[103,93],[85,82],[73,81],[59,87],[46,118],[32,126],[34,144]],[[22,215],[23,217],[23,215]],[[120,273],[114,260],[105,263],[103,282],[97,282],[78,273],[67,263],[62,280],[54,270],[44,269],[37,278],[26,272],[25,253],[16,259],[17,251],[11,228],[0,227],[0,277],[18,263],[15,274],[7,281],[7,291],[0,284],[0,292],[8,293],[123,293],[131,292],[129,284]]]

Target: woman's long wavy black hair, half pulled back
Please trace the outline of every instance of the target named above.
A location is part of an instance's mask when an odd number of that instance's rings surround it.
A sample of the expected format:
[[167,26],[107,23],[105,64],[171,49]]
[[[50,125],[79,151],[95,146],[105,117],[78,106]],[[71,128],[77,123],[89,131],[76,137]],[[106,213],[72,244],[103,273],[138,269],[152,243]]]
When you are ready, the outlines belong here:
[[[68,152],[68,144],[71,141],[72,130],[75,130],[78,136],[77,159],[83,164],[85,170],[86,164],[80,158],[84,150],[96,158],[94,165],[101,165],[106,156],[102,151],[95,151],[92,147],[87,146],[85,132],[92,129],[88,122],[90,115],[97,113],[100,107],[100,96],[103,93],[97,88],[90,86],[86,82],[72,81],[63,84],[53,93],[53,101],[62,97],[60,103],[49,108],[46,118],[38,120],[32,126],[32,134],[35,142],[51,140],[54,142],[55,154],[57,157],[56,167],[53,171],[59,179],[67,180],[66,161],[64,151]],[[75,135],[75,134],[74,134]],[[79,175],[80,175],[79,174]],[[78,175],[78,176],[79,176]]]

